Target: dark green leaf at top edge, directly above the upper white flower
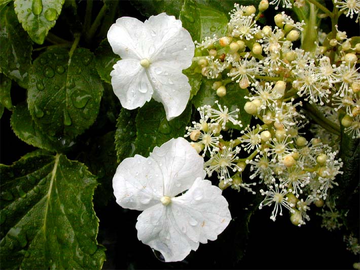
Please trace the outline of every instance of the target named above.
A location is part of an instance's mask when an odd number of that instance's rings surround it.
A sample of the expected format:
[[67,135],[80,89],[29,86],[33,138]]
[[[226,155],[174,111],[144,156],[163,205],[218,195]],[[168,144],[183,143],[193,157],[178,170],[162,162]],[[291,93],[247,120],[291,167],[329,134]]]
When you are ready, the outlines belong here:
[[131,4],[143,15],[150,17],[151,15],[158,15],[166,12],[167,15],[173,15],[176,18],[179,16],[184,0],[156,0],[156,1],[141,1],[134,0]]

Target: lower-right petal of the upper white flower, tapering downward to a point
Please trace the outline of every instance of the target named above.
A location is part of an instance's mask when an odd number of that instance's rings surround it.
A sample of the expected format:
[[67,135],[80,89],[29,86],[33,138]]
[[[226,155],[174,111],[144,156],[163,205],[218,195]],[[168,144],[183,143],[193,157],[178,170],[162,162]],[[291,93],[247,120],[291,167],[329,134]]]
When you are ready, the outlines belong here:
[[164,62],[152,63],[148,69],[154,86],[153,98],[164,105],[166,119],[180,115],[190,97],[189,79],[181,71]]

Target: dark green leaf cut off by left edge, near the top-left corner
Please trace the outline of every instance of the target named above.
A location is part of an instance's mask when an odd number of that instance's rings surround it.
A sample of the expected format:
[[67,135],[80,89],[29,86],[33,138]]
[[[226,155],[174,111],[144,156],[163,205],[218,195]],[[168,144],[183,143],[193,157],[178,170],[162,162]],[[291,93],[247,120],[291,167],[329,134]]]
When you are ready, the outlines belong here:
[[12,7],[0,12],[0,72],[27,88],[32,42]]

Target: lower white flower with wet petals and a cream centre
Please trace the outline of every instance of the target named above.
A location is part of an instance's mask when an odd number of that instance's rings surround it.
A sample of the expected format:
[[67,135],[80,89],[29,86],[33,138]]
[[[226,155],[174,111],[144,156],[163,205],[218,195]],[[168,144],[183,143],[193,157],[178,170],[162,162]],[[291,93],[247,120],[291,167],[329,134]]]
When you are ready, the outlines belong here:
[[199,243],[217,239],[231,220],[228,202],[220,188],[204,180],[203,166],[191,144],[177,138],[155,147],[149,158],[125,159],[116,171],[116,202],[143,211],[137,237],[165,261],[183,260]]

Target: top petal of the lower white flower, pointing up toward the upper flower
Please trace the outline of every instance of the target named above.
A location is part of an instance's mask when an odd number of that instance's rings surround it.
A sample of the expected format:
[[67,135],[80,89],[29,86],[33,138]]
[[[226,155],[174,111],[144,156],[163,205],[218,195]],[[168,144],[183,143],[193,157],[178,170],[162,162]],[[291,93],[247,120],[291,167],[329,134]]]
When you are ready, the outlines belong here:
[[164,179],[164,196],[174,197],[189,189],[197,177],[204,178],[204,160],[184,138],[171,139],[155,147],[150,158]]

